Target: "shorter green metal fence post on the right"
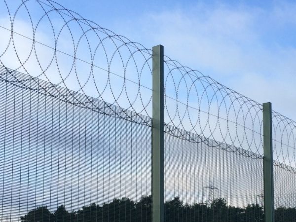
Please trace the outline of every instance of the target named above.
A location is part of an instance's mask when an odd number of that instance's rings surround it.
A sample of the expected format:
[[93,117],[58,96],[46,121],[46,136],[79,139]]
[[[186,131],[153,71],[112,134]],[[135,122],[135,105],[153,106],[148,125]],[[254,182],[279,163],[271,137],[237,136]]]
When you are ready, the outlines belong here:
[[263,103],[264,221],[274,222],[272,113],[271,103]]

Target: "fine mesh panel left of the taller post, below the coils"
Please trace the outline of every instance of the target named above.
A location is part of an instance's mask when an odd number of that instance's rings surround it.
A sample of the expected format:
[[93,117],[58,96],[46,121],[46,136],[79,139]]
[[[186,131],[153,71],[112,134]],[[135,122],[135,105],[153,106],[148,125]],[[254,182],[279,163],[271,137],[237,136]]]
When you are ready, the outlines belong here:
[[150,221],[149,117],[0,76],[0,221]]

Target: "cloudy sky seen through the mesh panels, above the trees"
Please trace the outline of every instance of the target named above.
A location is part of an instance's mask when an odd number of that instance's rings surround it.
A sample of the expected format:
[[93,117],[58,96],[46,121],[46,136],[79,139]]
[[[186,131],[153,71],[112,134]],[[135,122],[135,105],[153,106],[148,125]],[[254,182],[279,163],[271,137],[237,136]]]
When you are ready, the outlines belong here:
[[[0,93],[4,90],[0,221],[39,205],[53,212],[63,204],[71,211],[93,202],[102,206],[113,198],[139,201],[151,194],[150,127],[0,81]],[[23,99],[29,97],[30,102]],[[7,98],[13,102],[7,103]],[[257,203],[261,158],[248,158],[211,140],[181,138],[165,134],[165,201],[179,196],[188,204],[209,203],[204,186],[213,183],[219,187],[215,198],[223,197],[231,206]],[[286,188],[285,183],[275,183]],[[292,183],[286,191],[294,187]]]

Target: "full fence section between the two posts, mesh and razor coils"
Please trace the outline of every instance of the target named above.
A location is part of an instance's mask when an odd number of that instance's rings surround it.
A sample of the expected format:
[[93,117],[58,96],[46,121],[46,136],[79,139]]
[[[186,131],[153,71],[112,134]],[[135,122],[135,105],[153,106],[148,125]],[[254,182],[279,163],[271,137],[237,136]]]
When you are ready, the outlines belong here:
[[165,61],[165,220],[262,221],[261,105]]

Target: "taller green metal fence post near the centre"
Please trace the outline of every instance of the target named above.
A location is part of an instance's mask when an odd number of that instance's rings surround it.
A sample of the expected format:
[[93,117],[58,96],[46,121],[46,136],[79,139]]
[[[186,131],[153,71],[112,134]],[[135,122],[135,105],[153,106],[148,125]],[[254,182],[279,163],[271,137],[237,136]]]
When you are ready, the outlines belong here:
[[152,222],[164,222],[163,46],[152,48]]

